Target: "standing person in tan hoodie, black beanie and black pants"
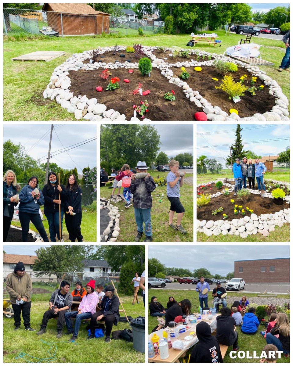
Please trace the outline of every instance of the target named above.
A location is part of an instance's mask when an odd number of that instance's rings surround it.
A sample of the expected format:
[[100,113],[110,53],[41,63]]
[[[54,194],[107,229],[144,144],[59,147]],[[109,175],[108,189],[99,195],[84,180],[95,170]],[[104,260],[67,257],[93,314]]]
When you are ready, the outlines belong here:
[[[22,262],[18,262],[14,271],[7,275],[5,285],[14,311],[14,330],[18,330],[21,326],[21,313],[25,330],[36,330],[30,327],[31,279],[30,275],[25,273],[25,266]],[[18,305],[17,300],[24,302]]]

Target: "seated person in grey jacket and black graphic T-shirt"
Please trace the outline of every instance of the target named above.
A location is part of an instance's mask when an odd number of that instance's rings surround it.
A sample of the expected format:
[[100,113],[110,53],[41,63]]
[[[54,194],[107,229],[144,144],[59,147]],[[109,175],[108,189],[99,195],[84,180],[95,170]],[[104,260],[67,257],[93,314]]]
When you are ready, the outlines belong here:
[[62,281],[59,288],[52,292],[49,300],[49,310],[45,311],[41,324],[41,329],[37,332],[40,336],[46,332],[48,321],[52,318],[58,317],[57,320],[57,337],[62,337],[63,326],[65,324],[65,313],[71,311],[72,295],[69,292],[70,283]]

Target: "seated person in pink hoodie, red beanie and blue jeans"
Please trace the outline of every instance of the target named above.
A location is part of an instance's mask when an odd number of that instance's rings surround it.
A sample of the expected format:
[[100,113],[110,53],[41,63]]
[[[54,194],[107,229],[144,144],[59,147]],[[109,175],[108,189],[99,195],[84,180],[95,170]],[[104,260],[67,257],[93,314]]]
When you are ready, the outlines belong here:
[[[99,296],[96,291],[94,291],[94,284],[94,280],[90,280],[89,283],[86,284],[87,294],[82,298],[81,303],[78,306],[78,311],[70,311],[65,313],[65,322],[68,330],[67,334],[73,333],[68,342],[74,342],[77,339],[81,321],[90,318],[93,313],[96,312],[96,306],[99,303]],[[75,318],[74,329],[70,318]]]

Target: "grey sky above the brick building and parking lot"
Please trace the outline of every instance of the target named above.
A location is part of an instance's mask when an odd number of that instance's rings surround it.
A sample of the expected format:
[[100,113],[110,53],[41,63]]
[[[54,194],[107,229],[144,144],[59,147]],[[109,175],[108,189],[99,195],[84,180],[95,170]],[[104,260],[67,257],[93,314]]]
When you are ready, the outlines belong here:
[[170,245],[148,247],[148,257],[157,258],[166,267],[207,268],[212,274],[226,276],[234,271],[234,261],[289,258],[289,245]]

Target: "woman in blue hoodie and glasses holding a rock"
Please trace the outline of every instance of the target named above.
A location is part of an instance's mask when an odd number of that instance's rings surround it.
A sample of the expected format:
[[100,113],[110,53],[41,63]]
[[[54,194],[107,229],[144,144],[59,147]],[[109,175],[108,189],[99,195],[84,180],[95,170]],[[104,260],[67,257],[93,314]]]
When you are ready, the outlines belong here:
[[44,196],[36,188],[39,181],[38,178],[30,177],[27,185],[22,188],[19,193],[18,217],[22,228],[22,241],[27,242],[27,236],[30,229],[30,221],[34,224],[37,231],[43,238],[44,242],[48,242],[48,236],[39,214],[40,206],[44,205]]

